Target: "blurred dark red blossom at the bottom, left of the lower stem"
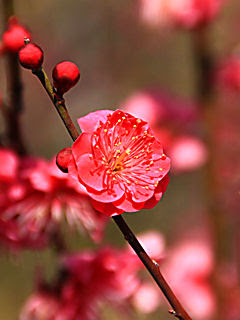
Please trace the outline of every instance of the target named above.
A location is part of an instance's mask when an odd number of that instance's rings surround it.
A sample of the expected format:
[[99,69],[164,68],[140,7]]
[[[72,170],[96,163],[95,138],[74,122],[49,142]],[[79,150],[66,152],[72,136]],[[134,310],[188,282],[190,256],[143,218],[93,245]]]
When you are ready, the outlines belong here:
[[44,311],[48,306],[54,312],[49,310],[44,320],[100,319],[103,305],[120,308],[136,290],[136,260],[132,253],[111,247],[64,256],[59,283],[32,295],[20,320],[30,320],[33,315],[36,320],[43,319],[38,308]]

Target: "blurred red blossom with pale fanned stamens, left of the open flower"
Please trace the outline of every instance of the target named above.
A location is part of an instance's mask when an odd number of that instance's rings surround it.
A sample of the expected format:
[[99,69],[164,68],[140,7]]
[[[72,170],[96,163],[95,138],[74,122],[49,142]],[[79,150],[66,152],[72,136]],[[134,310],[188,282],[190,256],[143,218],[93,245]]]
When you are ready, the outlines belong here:
[[99,241],[107,219],[96,212],[79,184],[54,161],[21,158],[0,149],[0,238],[16,247],[45,246],[65,215],[71,227]]

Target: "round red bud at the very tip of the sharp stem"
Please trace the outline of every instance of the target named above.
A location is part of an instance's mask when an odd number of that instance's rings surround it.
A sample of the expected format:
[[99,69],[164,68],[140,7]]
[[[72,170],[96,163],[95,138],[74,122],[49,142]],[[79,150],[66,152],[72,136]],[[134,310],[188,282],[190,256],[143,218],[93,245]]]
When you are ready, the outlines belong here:
[[19,62],[24,68],[39,69],[43,63],[42,49],[33,43],[28,43],[19,53]]

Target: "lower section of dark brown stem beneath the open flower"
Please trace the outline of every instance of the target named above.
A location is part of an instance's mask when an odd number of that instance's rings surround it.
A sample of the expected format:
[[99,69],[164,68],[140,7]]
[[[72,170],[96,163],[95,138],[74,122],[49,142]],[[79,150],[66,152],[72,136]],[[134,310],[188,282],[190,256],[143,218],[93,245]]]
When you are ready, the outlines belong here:
[[143,249],[143,247],[135,237],[134,233],[128,227],[123,217],[120,215],[114,216],[113,220],[121,230],[122,234],[124,235],[124,238],[127,240],[127,242],[130,244],[130,246],[133,248],[133,250],[136,252],[138,257],[142,261],[142,263],[145,265],[149,273],[152,275],[153,279],[156,281],[157,285],[162,290],[169,304],[172,306],[173,311],[170,311],[170,313],[172,313],[175,317],[179,319],[190,320],[190,316],[184,310],[183,306],[178,301],[172,289],[169,287],[168,283],[161,274],[159,265],[157,263],[154,263],[152,259],[147,255],[146,251]]

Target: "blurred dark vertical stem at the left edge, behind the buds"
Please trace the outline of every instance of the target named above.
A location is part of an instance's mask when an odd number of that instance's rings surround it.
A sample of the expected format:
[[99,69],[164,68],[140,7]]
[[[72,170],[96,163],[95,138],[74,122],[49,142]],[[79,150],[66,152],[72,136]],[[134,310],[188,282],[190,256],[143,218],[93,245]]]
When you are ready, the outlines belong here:
[[[12,0],[3,0],[4,20],[7,24],[8,18],[14,14]],[[23,109],[22,82],[17,54],[6,53],[7,83],[9,101],[4,112],[6,119],[6,130],[9,144],[19,154],[25,154],[26,148],[23,143],[20,116]]]

